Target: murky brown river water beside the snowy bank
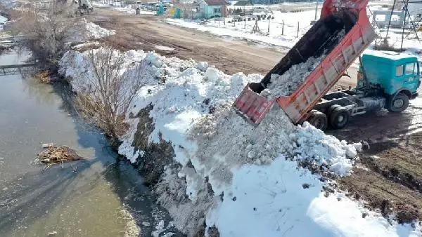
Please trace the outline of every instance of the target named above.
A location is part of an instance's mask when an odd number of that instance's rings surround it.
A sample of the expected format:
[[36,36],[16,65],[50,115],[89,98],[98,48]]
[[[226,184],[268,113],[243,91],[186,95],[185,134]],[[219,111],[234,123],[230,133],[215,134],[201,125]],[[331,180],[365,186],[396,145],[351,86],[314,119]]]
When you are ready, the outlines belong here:
[[[0,65],[17,55],[0,55]],[[72,114],[63,86],[0,76],[0,236],[151,236],[169,219],[131,165]],[[44,166],[41,144],[67,145],[84,161]],[[169,231],[172,231],[169,229]]]

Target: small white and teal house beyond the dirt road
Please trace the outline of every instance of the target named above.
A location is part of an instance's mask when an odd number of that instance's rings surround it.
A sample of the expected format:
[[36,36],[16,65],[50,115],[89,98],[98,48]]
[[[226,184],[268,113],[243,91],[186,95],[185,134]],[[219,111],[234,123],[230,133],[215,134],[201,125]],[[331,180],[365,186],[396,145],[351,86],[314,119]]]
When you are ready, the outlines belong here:
[[198,1],[199,18],[220,18],[227,16],[227,2],[225,0],[200,0]]

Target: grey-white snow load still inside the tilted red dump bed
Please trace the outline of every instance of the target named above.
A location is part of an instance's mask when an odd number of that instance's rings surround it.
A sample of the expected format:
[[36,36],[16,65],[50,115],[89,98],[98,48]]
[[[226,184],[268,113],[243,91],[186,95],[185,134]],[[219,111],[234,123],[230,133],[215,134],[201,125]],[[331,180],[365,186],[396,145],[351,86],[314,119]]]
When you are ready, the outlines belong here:
[[271,98],[290,95],[302,85],[307,76],[314,71],[324,57],[325,55],[309,57],[306,62],[293,65],[282,75],[271,74],[271,83],[269,83],[267,89],[262,91],[262,94]]

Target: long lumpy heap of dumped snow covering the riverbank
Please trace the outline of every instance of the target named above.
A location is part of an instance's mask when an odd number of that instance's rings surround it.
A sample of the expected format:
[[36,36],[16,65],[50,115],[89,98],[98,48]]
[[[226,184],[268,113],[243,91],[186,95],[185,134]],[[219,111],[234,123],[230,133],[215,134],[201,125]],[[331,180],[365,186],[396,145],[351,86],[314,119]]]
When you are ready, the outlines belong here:
[[[326,198],[320,176],[298,168],[301,163],[319,167],[321,174],[347,175],[360,144],[340,142],[308,123],[293,126],[278,107],[257,128],[231,109],[243,87],[262,76],[230,76],[205,62],[143,51],[125,56],[124,64],[146,62],[148,71],[128,114],[152,104],[148,142],[171,142],[180,164],[165,167],[154,187],[178,229],[192,236],[206,220],[222,236],[399,235],[402,227],[358,203],[340,194]],[[75,90],[89,90],[91,65],[84,53],[66,53],[60,73],[86,84]],[[139,120],[127,121],[119,152],[134,162],[146,151],[132,147]],[[362,218],[362,212],[368,216]]]

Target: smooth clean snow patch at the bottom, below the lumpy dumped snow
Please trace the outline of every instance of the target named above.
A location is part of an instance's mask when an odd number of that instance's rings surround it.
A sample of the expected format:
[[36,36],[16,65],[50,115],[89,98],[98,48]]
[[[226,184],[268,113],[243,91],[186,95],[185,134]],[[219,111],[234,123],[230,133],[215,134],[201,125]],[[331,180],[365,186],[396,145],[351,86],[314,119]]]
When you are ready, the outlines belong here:
[[324,197],[321,182],[283,156],[234,170],[224,194],[207,216],[221,236],[410,236],[410,225],[401,231],[343,194]]

